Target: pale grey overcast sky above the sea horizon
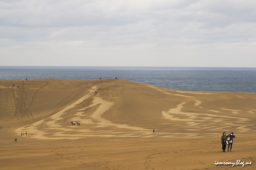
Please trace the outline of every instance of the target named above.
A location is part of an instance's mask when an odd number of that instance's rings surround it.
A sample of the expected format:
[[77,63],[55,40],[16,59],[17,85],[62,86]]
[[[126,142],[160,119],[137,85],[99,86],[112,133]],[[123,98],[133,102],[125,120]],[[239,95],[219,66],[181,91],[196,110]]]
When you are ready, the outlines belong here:
[[256,67],[255,0],[0,0],[0,66]]

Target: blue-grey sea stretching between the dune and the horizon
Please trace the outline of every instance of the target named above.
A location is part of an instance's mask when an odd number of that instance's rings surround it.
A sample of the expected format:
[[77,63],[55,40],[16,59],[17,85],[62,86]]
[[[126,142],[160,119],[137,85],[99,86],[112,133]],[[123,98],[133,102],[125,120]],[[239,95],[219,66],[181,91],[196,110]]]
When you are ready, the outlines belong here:
[[0,66],[0,79],[114,79],[184,91],[256,92],[256,68]]

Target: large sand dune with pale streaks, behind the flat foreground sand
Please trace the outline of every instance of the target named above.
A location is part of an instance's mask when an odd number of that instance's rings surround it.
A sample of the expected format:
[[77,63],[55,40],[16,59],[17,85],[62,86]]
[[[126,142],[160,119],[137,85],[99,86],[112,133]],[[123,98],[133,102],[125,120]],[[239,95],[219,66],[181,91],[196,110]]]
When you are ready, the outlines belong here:
[[[16,134],[33,138],[196,137],[223,127],[256,134],[254,93],[182,92],[119,79],[6,80],[1,86],[2,127],[14,123]],[[15,110],[29,114],[20,119]]]

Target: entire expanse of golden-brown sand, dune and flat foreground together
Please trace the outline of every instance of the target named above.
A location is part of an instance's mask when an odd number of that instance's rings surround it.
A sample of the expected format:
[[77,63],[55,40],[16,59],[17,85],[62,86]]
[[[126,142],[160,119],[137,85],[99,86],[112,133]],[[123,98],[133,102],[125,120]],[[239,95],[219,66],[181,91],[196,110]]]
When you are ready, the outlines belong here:
[[[255,118],[256,93],[0,80],[0,169],[253,169]],[[224,131],[232,152],[221,150]],[[252,165],[215,165],[237,160]]]

